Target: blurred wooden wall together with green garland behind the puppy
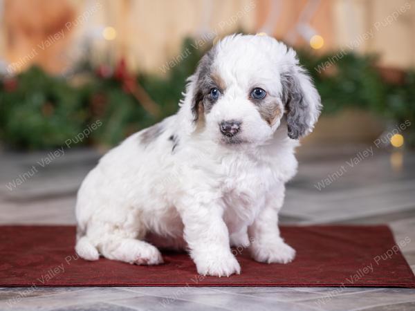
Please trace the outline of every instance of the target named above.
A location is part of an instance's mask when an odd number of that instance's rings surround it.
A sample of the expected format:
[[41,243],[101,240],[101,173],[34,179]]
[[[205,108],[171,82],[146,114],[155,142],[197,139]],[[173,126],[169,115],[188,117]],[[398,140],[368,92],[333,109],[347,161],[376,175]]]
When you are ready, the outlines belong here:
[[[118,144],[174,113],[201,55],[233,32],[264,33],[299,51],[324,104],[306,142],[371,142],[415,120],[414,6],[412,0],[0,1],[2,147],[60,147],[96,120],[101,126],[77,147]],[[413,146],[415,126],[407,127],[392,142]]]

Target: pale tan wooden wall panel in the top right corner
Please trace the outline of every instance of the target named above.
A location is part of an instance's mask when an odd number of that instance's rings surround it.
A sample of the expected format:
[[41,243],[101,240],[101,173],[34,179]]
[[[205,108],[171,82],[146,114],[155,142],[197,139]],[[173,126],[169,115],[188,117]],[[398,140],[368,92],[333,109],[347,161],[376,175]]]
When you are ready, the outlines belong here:
[[414,0],[335,0],[335,47],[375,53],[382,66],[415,66]]

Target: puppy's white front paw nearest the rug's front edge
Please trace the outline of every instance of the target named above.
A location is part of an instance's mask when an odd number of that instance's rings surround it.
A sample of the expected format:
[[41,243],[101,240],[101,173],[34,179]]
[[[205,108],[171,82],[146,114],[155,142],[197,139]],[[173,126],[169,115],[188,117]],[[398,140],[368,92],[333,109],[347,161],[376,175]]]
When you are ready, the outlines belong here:
[[200,254],[199,256],[195,256],[194,263],[196,263],[197,272],[202,275],[220,277],[241,273],[241,266],[237,258],[230,252],[225,254],[213,254],[213,252],[204,255]]

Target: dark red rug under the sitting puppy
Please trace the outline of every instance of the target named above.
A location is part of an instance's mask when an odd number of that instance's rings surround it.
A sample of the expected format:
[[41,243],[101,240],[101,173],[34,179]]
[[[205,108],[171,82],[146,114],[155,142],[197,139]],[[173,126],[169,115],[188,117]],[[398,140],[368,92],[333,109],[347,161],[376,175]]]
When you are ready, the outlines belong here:
[[150,267],[89,262],[73,251],[75,227],[3,226],[0,286],[415,287],[386,226],[282,227],[282,236],[297,249],[293,263],[256,263],[234,250],[241,274],[217,278],[197,274],[187,254],[165,253],[165,264]]

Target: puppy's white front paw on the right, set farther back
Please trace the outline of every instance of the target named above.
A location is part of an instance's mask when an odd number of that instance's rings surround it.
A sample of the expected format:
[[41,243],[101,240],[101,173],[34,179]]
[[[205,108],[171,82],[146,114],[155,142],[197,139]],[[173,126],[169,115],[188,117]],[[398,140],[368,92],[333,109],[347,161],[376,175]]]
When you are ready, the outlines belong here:
[[252,243],[252,257],[261,263],[291,263],[295,257],[295,249],[284,241],[259,244]]

